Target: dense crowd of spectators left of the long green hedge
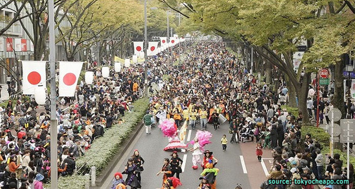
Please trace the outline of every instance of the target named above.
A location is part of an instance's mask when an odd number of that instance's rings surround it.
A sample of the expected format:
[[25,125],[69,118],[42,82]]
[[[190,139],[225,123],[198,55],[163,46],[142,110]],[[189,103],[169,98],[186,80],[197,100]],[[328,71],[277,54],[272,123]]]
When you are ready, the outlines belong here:
[[[122,67],[103,78],[92,67],[91,85],[80,81],[74,97],[57,100],[58,175],[74,174],[76,160],[85,156],[97,137],[113,124],[123,122],[126,111],[143,95],[144,68],[141,64]],[[11,83],[10,83],[11,85]],[[10,87],[10,86],[9,86]],[[12,104],[14,102],[14,104]],[[4,115],[0,133],[0,187],[43,188],[50,181],[49,100],[39,106],[33,96],[9,100],[0,108]]]

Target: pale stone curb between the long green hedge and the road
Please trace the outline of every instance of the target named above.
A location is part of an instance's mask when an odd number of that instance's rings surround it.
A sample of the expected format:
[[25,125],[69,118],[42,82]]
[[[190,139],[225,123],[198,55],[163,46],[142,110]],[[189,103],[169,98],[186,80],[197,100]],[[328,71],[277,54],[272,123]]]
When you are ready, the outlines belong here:
[[[96,186],[102,186],[103,182],[105,181],[105,179],[110,176],[109,174],[112,172],[112,170],[115,168],[115,165],[121,160],[122,156],[123,156],[123,152],[125,152],[128,147],[130,146],[130,144],[132,143],[132,141],[134,140],[134,138],[138,135],[140,129],[143,128],[143,122],[138,123],[137,126],[135,127],[135,129],[129,134],[129,138],[128,140],[126,140],[122,146],[118,149],[117,153],[114,155],[114,159],[112,159],[108,165],[107,168],[104,169],[101,172],[101,175],[99,177],[96,178]],[[111,175],[112,176],[112,175]],[[90,188],[93,188],[94,186],[90,186]]]

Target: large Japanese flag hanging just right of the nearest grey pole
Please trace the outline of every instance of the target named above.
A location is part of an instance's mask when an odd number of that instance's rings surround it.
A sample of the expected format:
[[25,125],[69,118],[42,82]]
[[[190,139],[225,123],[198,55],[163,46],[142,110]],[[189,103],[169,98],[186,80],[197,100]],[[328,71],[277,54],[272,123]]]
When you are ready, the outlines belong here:
[[83,62],[59,62],[59,96],[74,96]]

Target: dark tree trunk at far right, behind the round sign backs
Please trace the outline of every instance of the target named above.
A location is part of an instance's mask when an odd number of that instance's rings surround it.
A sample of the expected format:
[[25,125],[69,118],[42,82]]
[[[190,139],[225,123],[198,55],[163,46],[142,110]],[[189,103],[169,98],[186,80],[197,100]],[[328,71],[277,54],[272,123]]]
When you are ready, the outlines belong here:
[[334,66],[334,96],[331,99],[334,107],[338,108],[342,113],[342,118],[345,118],[346,112],[344,108],[344,77],[343,77],[343,62],[344,55],[341,56],[341,60]]

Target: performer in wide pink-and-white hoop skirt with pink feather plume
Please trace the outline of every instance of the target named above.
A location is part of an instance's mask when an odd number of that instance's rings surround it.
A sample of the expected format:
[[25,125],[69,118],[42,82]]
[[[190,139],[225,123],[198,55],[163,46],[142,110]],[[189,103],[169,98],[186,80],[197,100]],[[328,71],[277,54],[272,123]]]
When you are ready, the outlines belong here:
[[163,135],[169,138],[169,143],[167,146],[165,146],[164,150],[168,150],[168,149],[176,150],[177,148],[182,148],[182,149],[187,148],[187,145],[184,143],[184,141],[179,139],[178,136],[179,131],[177,130],[177,126],[174,124],[174,121],[172,119],[164,120],[159,125],[159,127],[163,132]]

